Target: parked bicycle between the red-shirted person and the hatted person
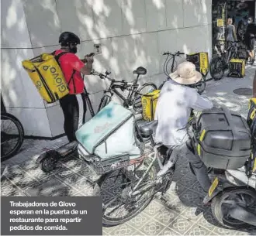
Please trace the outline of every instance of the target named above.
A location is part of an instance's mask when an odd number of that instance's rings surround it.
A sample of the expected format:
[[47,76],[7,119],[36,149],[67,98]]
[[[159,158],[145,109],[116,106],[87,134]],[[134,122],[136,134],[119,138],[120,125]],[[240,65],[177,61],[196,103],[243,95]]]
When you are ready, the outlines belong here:
[[[109,77],[111,72],[106,71],[105,74],[101,74],[95,70],[92,70],[92,74],[99,76],[101,79],[107,79],[110,81],[109,87],[104,91],[104,95],[99,103],[98,112],[102,110],[110,101],[112,101],[112,96],[116,94],[123,101],[123,106],[125,108],[132,108],[137,114],[142,112],[141,96],[144,96],[150,91],[157,90],[157,86],[153,83],[146,83],[140,87],[138,80],[140,75],[147,74],[147,70],[144,67],[138,67],[133,71],[133,74],[137,74],[137,78],[133,82],[127,82],[126,80],[115,80]],[[124,97],[116,89],[121,91],[129,91],[129,94]],[[144,92],[145,91],[145,92]],[[147,95],[146,95],[147,96]]]

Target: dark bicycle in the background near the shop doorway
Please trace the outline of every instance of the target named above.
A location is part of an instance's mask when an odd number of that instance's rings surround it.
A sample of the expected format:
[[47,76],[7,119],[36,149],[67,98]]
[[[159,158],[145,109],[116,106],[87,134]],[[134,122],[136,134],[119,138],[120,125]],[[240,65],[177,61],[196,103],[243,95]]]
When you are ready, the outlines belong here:
[[220,46],[216,46],[219,53],[213,56],[209,63],[209,72],[213,77],[213,80],[221,80],[225,73],[225,70],[229,67],[229,62],[231,58],[239,59],[245,58],[246,56],[239,56],[240,49],[242,46],[238,45],[239,41],[230,43],[227,50],[221,50]]

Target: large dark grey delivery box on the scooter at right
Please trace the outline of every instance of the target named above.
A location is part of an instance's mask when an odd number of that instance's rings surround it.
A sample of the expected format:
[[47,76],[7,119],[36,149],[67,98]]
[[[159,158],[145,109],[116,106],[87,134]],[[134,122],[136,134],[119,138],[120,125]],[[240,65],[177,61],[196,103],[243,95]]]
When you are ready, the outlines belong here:
[[216,169],[237,169],[251,156],[251,131],[246,120],[227,108],[202,111],[195,145],[202,162]]

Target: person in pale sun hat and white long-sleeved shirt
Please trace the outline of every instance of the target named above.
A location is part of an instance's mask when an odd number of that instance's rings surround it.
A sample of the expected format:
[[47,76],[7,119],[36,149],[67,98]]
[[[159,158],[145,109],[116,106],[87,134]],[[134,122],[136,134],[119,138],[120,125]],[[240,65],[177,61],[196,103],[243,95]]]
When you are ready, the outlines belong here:
[[[170,77],[171,80],[164,84],[157,101],[155,119],[158,124],[155,139],[169,149],[166,153],[171,153],[171,157],[157,175],[161,176],[168,171],[172,166],[173,157],[184,155],[191,162],[197,180],[207,193],[211,182],[206,173],[206,166],[193,151],[186,126],[192,109],[210,109],[213,108],[213,103],[189,87],[202,79],[202,74],[195,70],[193,63],[179,64]],[[169,152],[170,150],[172,152]]]

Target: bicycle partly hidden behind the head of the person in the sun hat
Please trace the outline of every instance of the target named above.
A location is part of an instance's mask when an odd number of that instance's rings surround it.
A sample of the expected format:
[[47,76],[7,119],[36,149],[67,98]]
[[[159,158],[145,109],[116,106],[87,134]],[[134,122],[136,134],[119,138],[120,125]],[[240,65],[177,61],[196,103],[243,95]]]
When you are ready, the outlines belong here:
[[[176,56],[181,57],[181,55],[185,55],[185,53],[181,53],[181,52],[179,52],[179,51],[176,52],[176,53],[174,53],[174,54],[169,53],[169,52],[163,53],[163,56],[165,56],[165,55],[167,55],[167,57],[166,57],[166,60],[165,60],[165,62],[164,62],[164,74],[165,74],[168,78],[167,78],[167,80],[164,80],[164,82],[159,86],[159,88],[158,88],[159,90],[162,89],[162,87],[164,86],[164,83],[165,83],[166,81],[171,80],[171,78],[169,77],[169,74],[175,72],[175,70],[176,70],[177,62],[175,61],[175,57],[176,57]],[[169,59],[169,56],[171,56],[170,59]],[[171,72],[168,73],[168,63],[170,62],[171,59],[172,59],[172,62],[171,62]],[[201,72],[201,74],[202,74],[202,72]],[[198,91],[199,94],[202,94],[202,92],[205,91],[205,89],[206,89],[206,76],[207,76],[207,74],[206,74],[206,75],[205,75],[205,74],[202,74],[202,80],[199,81],[199,82],[196,83],[196,84],[190,85],[189,87],[195,88],[195,89]]]

